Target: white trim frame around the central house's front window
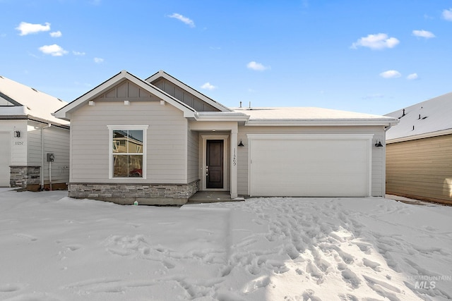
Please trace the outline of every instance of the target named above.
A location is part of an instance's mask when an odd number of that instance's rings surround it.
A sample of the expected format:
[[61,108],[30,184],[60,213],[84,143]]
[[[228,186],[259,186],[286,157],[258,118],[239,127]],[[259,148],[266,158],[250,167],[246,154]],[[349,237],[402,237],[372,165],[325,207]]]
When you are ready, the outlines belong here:
[[[148,127],[149,125],[107,125],[108,128],[108,178],[109,180],[138,180],[146,178],[146,166],[147,164],[147,156],[146,156],[146,147],[148,145]],[[114,130],[143,130],[143,168],[142,168],[142,177],[141,178],[117,178],[113,177],[113,131]]]

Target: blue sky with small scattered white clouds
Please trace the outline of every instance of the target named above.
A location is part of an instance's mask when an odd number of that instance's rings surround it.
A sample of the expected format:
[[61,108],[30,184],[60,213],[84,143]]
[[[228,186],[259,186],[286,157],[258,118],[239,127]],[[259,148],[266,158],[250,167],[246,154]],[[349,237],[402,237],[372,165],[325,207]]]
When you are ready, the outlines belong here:
[[452,91],[452,0],[0,0],[0,75],[66,102],[165,70],[225,104],[385,114]]

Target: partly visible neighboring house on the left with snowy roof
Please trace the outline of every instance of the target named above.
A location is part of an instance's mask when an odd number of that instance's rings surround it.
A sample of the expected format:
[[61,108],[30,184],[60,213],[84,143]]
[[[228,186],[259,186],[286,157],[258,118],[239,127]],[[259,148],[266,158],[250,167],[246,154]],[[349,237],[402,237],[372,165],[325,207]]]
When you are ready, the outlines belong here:
[[69,122],[52,116],[65,104],[0,76],[0,187],[66,188]]

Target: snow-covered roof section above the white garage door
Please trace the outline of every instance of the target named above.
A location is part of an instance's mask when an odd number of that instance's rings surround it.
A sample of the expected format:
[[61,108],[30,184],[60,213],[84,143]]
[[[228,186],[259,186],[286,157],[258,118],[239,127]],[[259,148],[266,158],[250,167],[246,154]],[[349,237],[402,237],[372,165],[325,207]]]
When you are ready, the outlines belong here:
[[312,107],[235,108],[249,116],[246,125],[393,125],[397,118]]

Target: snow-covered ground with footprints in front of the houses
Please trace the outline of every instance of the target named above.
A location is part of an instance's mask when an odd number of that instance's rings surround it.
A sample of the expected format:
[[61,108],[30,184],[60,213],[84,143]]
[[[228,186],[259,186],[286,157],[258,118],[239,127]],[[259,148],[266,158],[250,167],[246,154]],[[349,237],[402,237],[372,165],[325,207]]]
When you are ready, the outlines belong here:
[[0,300],[450,300],[452,207],[0,190]]

